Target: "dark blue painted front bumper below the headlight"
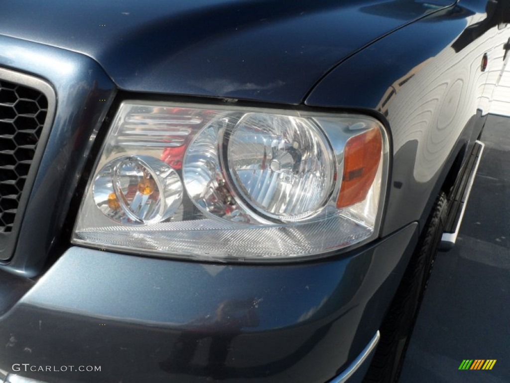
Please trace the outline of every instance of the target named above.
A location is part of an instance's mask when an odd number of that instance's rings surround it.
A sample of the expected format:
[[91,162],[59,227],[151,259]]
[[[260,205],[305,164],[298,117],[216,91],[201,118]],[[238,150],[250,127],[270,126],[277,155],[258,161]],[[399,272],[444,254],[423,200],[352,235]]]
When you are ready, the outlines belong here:
[[51,382],[324,383],[371,342],[416,242],[411,224],[347,255],[264,266],[72,247],[0,318],[0,372]]

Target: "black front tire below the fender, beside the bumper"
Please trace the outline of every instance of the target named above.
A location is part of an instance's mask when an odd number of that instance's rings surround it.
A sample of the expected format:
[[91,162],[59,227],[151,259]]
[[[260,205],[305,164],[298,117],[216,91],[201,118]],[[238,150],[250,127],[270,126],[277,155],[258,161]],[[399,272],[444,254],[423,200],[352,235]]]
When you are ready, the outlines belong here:
[[366,383],[394,383],[398,380],[405,351],[427,288],[428,277],[441,242],[447,214],[448,199],[441,192],[388,313],[382,321],[379,329],[381,338],[365,376]]

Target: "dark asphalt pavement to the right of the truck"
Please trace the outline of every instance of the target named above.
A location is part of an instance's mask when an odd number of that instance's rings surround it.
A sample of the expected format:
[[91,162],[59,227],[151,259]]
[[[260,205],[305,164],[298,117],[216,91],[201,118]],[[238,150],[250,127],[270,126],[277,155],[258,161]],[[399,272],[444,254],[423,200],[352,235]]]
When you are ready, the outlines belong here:
[[[510,382],[510,118],[490,115],[455,248],[439,253],[400,383]],[[459,371],[463,359],[496,359]]]

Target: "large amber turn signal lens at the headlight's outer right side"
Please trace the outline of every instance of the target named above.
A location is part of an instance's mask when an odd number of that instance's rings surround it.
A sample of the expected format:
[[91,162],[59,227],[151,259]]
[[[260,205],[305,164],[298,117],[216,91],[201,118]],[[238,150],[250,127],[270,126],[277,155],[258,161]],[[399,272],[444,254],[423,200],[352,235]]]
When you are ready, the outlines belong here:
[[382,135],[377,127],[350,138],[344,151],[344,173],[337,208],[363,201],[381,159]]

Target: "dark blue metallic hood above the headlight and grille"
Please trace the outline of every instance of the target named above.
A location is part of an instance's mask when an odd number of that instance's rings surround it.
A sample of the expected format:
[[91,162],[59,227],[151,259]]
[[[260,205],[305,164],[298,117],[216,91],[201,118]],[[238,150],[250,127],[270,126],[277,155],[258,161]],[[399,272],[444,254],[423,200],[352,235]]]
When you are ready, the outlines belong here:
[[297,104],[343,58],[448,3],[3,0],[0,34],[88,55],[126,90]]

